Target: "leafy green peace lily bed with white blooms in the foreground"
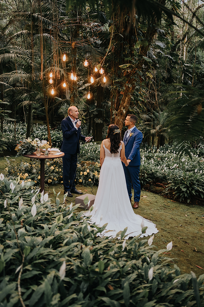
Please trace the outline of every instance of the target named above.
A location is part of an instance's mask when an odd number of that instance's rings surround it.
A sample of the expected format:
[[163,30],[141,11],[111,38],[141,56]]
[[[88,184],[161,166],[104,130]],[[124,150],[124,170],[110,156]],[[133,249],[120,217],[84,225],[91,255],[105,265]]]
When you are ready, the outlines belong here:
[[106,224],[90,224],[78,205],[19,186],[0,196],[1,306],[204,306],[204,274],[180,275],[153,237],[97,236]]

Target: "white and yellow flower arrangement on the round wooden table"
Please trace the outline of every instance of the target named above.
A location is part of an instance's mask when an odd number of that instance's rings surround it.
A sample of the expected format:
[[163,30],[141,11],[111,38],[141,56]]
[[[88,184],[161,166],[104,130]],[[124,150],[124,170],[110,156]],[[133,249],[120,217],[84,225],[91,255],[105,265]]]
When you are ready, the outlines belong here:
[[50,144],[45,140],[40,141],[39,138],[35,138],[35,140],[32,141],[31,138],[28,138],[20,141],[15,150],[17,151],[17,156],[19,156],[24,154],[32,154],[38,147],[41,149],[51,148]]

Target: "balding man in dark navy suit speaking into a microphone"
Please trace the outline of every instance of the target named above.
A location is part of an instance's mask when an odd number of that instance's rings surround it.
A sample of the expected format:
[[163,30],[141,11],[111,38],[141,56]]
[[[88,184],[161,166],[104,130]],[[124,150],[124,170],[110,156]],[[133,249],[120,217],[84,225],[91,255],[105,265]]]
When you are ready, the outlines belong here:
[[80,140],[84,142],[91,140],[90,137],[81,134],[81,121],[77,121],[78,117],[77,107],[72,106],[68,109],[68,116],[61,121],[63,134],[61,151],[65,153],[62,157],[64,194],[68,192],[69,197],[73,196],[71,193],[82,194],[75,186],[77,155],[80,152]]

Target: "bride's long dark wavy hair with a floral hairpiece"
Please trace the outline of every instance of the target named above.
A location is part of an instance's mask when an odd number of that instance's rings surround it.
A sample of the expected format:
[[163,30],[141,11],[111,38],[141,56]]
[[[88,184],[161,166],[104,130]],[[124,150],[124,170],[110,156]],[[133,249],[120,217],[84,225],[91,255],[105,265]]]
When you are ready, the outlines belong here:
[[122,141],[119,127],[115,124],[110,124],[106,138],[110,139],[110,153],[118,153]]

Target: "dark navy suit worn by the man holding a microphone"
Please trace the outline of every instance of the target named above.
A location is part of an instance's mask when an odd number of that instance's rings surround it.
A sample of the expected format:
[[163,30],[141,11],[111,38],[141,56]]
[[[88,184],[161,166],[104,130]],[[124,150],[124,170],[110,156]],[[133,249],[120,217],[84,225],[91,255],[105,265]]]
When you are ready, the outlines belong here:
[[77,167],[77,154],[80,152],[80,140],[85,142],[85,136],[81,135],[81,128],[78,130],[72,124],[69,116],[61,121],[63,142],[61,151],[65,153],[63,162],[63,183],[65,191],[75,188],[75,177]]

